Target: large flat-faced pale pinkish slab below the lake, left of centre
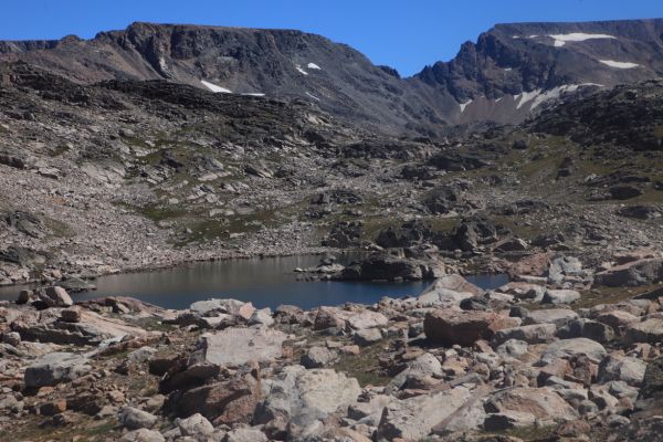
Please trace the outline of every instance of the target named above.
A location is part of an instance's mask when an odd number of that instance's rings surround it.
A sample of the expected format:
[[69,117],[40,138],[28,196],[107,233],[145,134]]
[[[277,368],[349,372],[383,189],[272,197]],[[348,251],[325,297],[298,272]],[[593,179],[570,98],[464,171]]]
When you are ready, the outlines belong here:
[[281,357],[285,338],[284,333],[267,328],[227,328],[202,335],[200,345],[207,362],[238,367]]

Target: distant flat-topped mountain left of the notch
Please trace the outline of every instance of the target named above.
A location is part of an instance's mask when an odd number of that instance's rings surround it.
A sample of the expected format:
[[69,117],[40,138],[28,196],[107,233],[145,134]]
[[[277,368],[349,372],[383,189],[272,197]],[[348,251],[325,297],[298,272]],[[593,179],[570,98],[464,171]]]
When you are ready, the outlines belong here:
[[170,80],[213,92],[303,98],[381,128],[442,123],[396,71],[301,31],[134,23],[90,41],[4,42],[0,54],[78,83]]

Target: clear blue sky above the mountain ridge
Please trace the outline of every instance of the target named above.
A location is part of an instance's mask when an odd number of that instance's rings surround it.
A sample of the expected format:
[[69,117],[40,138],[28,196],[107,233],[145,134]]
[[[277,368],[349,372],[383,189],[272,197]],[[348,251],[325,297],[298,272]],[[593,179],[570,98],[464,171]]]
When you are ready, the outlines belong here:
[[663,0],[2,0],[0,40],[92,38],[133,21],[301,29],[411,75],[495,23],[663,18]]

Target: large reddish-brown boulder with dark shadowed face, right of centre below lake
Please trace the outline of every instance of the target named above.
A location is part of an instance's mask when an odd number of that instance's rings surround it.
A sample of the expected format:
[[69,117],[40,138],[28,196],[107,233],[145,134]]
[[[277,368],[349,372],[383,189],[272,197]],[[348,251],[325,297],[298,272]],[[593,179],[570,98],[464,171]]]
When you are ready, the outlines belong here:
[[432,343],[472,346],[480,339],[491,339],[496,330],[518,325],[517,318],[496,313],[436,309],[425,315],[423,329]]

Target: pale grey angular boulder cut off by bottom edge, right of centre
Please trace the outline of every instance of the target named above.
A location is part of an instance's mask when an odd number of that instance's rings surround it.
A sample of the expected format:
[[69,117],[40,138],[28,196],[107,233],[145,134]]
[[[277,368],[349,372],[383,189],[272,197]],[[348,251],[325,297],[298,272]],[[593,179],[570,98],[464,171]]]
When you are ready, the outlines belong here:
[[[454,418],[459,410],[472,400],[472,393],[463,387],[393,400],[382,411],[376,440],[421,441],[436,425],[444,428],[445,421]],[[483,421],[483,420],[482,420]],[[476,429],[481,422],[464,422],[465,429]]]

